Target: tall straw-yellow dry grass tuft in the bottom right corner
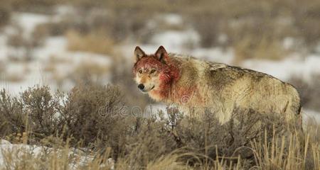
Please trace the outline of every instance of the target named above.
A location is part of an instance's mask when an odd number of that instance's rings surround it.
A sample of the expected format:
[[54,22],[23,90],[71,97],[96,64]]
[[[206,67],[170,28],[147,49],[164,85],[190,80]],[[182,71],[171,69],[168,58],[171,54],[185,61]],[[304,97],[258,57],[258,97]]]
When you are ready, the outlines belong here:
[[[287,137],[272,135],[272,141],[253,140],[252,152],[260,169],[319,169],[319,141],[310,134],[292,132]],[[317,146],[317,147],[316,147]]]

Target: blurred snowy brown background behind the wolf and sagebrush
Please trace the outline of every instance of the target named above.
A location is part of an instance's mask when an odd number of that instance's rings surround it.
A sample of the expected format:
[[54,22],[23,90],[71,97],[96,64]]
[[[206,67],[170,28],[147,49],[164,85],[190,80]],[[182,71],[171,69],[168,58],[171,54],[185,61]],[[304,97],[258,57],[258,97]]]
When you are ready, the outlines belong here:
[[132,54],[169,52],[289,81],[320,120],[319,0],[0,0],[0,88],[117,84],[130,105],[152,103],[132,80]]

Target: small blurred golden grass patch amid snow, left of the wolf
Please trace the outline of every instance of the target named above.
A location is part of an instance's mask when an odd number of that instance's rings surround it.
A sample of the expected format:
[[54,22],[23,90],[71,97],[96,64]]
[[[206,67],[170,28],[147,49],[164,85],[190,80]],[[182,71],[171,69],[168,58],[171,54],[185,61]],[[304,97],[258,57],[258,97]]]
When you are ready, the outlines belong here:
[[95,52],[104,55],[112,55],[114,52],[114,42],[102,31],[81,35],[75,30],[70,30],[66,36],[68,50]]

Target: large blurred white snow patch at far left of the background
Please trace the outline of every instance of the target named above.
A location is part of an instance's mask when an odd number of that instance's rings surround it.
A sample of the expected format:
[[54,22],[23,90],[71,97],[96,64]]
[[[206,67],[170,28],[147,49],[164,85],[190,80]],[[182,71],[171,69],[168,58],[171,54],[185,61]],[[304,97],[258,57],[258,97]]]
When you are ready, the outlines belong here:
[[[33,13],[14,13],[14,25],[21,27],[23,37],[29,38],[33,29],[40,23],[58,20],[58,17],[49,17]],[[4,71],[0,69],[0,89],[6,89],[11,94],[28,89],[35,84],[48,85],[51,89],[68,90],[74,84],[68,76],[81,64],[95,64],[100,67],[110,67],[112,60],[106,55],[97,55],[89,52],[70,52],[65,37],[50,37],[41,47],[32,51],[31,61],[12,61],[11,55],[19,58],[23,56],[23,49],[7,45],[6,40],[14,28],[6,26],[0,34],[0,62],[4,64]],[[17,52],[20,52],[21,55]],[[1,64],[0,63],[0,64]],[[10,81],[8,77],[18,77],[17,81]],[[57,84],[57,79],[64,79],[62,84]],[[105,82],[109,77],[105,75]]]

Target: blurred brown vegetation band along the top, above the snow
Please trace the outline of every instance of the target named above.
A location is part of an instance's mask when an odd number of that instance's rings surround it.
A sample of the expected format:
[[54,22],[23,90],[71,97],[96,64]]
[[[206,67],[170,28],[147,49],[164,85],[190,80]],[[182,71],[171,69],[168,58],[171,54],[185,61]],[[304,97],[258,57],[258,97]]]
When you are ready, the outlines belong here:
[[[279,60],[287,52],[313,52],[319,43],[320,3],[316,0],[301,3],[294,0],[201,0],[197,3],[175,1],[170,5],[159,0],[144,3],[128,0],[36,2],[21,0],[8,4],[22,11],[41,11],[39,8],[53,8],[58,4],[73,6],[75,13],[64,16],[62,21],[41,24],[35,35],[40,41],[41,35],[64,35],[73,30],[69,40],[70,49],[75,50],[110,54],[114,44],[132,39],[149,42],[154,33],[183,28],[195,29],[201,37],[202,47],[233,47],[235,62],[250,58]],[[163,13],[181,16],[181,26],[166,26],[157,19]],[[84,38],[79,39],[79,35]],[[293,40],[287,47],[284,45],[286,38]],[[107,48],[101,48],[102,45]]]

